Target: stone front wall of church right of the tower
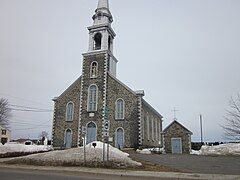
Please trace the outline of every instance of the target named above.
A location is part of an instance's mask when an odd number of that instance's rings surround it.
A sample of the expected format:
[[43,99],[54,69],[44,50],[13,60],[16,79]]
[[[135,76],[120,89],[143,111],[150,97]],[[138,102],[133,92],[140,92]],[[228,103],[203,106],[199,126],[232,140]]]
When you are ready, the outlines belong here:
[[[133,148],[138,146],[138,102],[136,94],[111,75],[108,75],[107,87],[107,105],[110,110],[110,136],[114,139],[112,145],[115,146],[115,132],[117,128],[121,127],[124,129],[125,147]],[[125,101],[124,120],[115,119],[115,102],[119,98]]]

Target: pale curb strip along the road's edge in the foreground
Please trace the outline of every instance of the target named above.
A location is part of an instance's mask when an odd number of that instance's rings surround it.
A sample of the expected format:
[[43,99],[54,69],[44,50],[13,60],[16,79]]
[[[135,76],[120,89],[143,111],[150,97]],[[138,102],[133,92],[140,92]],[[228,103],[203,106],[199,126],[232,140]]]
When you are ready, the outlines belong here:
[[29,166],[29,165],[7,165],[0,163],[1,168],[17,170],[55,171],[57,173],[86,173],[94,175],[113,175],[119,177],[142,177],[142,178],[163,178],[163,179],[216,179],[216,180],[238,180],[240,175],[223,174],[198,174],[198,173],[176,173],[176,172],[152,172],[152,171],[130,171],[111,170],[85,167],[53,167],[53,166]]

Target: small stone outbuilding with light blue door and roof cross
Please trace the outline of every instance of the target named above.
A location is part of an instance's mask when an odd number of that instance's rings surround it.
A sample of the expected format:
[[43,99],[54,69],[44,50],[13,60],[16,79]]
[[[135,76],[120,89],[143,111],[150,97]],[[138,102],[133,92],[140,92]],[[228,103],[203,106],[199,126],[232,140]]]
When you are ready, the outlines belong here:
[[189,154],[191,152],[191,135],[193,133],[174,120],[163,130],[163,146],[166,153]]

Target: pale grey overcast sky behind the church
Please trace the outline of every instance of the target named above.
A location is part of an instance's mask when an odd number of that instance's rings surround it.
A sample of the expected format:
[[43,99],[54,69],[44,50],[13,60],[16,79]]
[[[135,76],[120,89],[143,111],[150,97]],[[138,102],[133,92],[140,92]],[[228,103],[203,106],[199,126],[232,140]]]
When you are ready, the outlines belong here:
[[[239,0],[109,0],[117,77],[200,140],[224,141],[220,124],[240,92]],[[81,75],[97,0],[0,0],[0,97],[53,108]],[[51,134],[52,113],[14,111],[13,138]]]

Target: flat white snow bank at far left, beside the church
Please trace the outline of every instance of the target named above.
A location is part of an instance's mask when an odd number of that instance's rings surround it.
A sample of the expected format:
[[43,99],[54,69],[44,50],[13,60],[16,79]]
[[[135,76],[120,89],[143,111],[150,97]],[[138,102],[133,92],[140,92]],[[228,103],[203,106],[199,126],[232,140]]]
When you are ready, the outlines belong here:
[[25,145],[25,144],[16,144],[8,143],[2,145],[0,143],[0,154],[5,153],[14,153],[14,152],[24,152],[24,153],[34,153],[34,152],[45,152],[51,151],[51,146],[37,146],[37,145]]

